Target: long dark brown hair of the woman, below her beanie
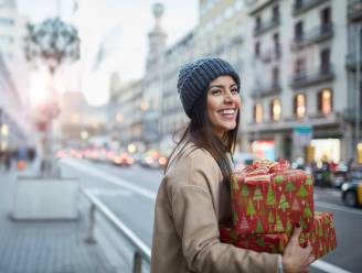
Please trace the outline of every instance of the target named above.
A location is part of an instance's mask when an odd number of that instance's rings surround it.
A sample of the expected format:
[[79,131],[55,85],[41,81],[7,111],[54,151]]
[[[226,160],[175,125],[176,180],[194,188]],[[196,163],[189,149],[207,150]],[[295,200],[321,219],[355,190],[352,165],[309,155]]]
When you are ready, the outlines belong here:
[[[164,168],[164,173],[169,165],[171,165],[178,155],[181,154],[185,145],[189,142],[192,142],[195,144],[195,149],[203,148],[212,155],[221,168],[224,181],[230,183],[230,175],[233,167],[231,166],[231,162],[227,159],[226,153],[233,155],[235,151],[238,123],[239,111],[237,111],[236,116],[236,127],[233,130],[227,131],[223,139],[220,140],[212,132],[212,125],[207,114],[207,91],[203,92],[200,99],[195,102],[191,121],[184,129],[182,129],[181,138],[179,141],[174,138],[177,145],[170,154],[170,161]],[[173,156],[177,151],[178,154]]]

